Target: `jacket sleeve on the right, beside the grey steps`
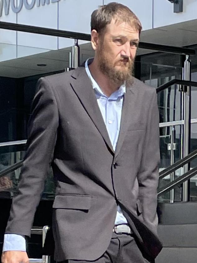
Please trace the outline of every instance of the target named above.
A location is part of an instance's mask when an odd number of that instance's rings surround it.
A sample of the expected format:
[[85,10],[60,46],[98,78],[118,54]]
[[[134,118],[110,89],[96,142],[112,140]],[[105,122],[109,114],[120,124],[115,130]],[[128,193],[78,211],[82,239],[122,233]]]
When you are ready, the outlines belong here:
[[143,221],[157,233],[157,187],[159,179],[159,113],[157,94],[154,92],[149,107],[143,155],[138,173],[139,199]]

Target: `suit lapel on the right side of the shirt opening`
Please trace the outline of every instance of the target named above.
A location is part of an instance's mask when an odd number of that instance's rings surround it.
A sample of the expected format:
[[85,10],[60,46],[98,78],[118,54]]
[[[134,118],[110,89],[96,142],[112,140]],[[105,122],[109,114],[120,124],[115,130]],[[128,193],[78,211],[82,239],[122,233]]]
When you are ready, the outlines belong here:
[[122,108],[122,115],[120,122],[120,132],[119,132],[114,158],[116,158],[116,156],[120,152],[128,127],[132,122],[132,115],[135,114],[135,106],[134,106],[135,96],[136,95],[132,84],[131,87],[126,88],[126,93],[124,94],[123,108]]

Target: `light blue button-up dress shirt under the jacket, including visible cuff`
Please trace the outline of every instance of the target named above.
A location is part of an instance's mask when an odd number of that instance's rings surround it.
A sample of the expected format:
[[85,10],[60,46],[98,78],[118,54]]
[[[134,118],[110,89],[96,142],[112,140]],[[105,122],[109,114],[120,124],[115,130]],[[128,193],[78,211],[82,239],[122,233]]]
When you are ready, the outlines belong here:
[[[100,108],[103,120],[108,131],[111,144],[115,151],[116,143],[118,141],[120,131],[120,121],[122,114],[122,105],[124,93],[126,92],[125,85],[120,86],[118,90],[107,97],[93,79],[90,70],[88,68],[88,60],[85,63],[86,73],[91,81],[92,88],[95,91],[96,100]],[[126,224],[127,220],[124,217],[120,206],[117,206],[117,214],[115,218],[115,225]],[[16,234],[5,234],[3,242],[3,251],[26,251],[25,237]]]

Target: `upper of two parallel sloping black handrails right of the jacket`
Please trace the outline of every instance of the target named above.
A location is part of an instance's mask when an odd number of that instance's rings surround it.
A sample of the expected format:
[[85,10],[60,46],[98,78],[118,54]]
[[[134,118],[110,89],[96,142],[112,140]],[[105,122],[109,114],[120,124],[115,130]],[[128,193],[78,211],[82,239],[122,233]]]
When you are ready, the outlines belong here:
[[175,172],[180,167],[188,164],[191,160],[195,159],[196,157],[197,157],[197,150],[191,152],[190,154],[188,154],[187,156],[185,156],[181,160],[178,160],[173,165],[171,165],[171,166],[167,167],[166,169],[162,170],[159,173],[159,179],[162,179],[162,178],[166,177],[167,175],[170,175],[171,173]]

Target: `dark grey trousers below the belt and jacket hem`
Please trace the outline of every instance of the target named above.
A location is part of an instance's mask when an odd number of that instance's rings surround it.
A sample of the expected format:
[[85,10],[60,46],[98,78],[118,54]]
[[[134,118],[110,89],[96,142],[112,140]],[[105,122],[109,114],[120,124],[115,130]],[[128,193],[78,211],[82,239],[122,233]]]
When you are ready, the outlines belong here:
[[127,234],[115,234],[106,252],[95,261],[66,260],[64,263],[149,263],[139,250],[134,237]]

